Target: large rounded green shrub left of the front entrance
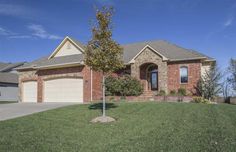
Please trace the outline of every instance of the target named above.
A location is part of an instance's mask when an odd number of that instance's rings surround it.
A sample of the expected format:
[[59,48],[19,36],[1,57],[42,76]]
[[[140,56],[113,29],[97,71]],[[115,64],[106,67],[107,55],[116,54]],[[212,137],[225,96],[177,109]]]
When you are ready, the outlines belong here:
[[106,78],[106,95],[138,96],[142,92],[143,86],[140,81],[129,75]]

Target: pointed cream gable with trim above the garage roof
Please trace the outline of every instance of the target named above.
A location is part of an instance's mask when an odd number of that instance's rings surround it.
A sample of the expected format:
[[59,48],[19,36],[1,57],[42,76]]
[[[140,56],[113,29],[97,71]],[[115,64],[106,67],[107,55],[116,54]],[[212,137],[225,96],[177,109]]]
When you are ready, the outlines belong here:
[[68,36],[60,43],[60,45],[53,51],[48,59],[53,57],[62,57],[68,55],[82,54],[84,48],[81,43],[74,41]]

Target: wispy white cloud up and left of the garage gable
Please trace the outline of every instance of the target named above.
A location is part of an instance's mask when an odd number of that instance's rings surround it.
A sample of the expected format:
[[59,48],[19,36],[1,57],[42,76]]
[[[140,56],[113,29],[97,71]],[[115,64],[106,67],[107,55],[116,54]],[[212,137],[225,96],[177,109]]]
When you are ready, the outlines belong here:
[[42,25],[31,24],[27,26],[32,31],[32,35],[41,39],[57,40],[62,39],[61,36],[48,33]]

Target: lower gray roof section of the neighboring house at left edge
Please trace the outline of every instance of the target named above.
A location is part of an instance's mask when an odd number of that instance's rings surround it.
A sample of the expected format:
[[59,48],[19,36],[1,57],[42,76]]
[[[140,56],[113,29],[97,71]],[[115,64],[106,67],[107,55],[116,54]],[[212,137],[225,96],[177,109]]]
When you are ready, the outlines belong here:
[[16,73],[0,72],[0,83],[18,83],[18,75]]

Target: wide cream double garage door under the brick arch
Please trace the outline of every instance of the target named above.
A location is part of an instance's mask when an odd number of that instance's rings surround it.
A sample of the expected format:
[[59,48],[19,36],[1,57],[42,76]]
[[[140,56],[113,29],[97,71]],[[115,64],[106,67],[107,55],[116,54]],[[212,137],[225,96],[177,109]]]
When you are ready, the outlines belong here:
[[83,102],[83,79],[44,81],[44,102]]

